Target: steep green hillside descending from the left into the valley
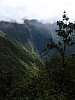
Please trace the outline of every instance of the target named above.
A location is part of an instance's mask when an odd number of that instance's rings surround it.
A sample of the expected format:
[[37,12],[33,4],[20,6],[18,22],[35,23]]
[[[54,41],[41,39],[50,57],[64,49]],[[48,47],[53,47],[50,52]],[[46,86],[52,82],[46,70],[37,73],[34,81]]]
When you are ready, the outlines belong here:
[[[31,100],[42,67],[40,58],[0,30],[0,100]],[[33,92],[33,93],[32,93]]]

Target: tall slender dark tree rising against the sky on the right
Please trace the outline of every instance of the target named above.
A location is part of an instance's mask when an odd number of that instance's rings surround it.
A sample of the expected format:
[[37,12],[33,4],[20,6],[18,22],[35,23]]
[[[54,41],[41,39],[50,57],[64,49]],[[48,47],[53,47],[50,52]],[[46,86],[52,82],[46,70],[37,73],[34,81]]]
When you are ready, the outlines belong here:
[[[64,88],[64,75],[65,75],[65,67],[66,67],[66,48],[72,47],[75,44],[74,41],[74,31],[75,31],[75,23],[69,22],[69,18],[67,17],[66,12],[64,11],[62,16],[62,21],[57,21],[58,29],[55,30],[59,37],[59,41],[56,43],[52,38],[49,38],[50,43],[47,43],[43,46],[43,51],[48,54],[50,50],[57,50],[62,57],[62,68],[61,68],[61,86],[60,92]],[[49,58],[48,58],[49,60]]]

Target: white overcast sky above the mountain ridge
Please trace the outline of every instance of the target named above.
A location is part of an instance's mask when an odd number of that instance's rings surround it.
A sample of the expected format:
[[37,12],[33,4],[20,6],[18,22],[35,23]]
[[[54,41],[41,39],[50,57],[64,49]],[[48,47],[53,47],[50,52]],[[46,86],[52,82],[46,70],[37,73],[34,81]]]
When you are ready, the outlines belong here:
[[60,20],[63,11],[75,21],[75,0],[0,0],[0,20]]

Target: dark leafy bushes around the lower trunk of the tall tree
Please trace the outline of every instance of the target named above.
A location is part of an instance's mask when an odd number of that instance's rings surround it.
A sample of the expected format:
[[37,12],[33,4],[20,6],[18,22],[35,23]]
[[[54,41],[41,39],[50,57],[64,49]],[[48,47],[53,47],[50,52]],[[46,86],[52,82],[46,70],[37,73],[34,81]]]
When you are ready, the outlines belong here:
[[[45,69],[39,74],[45,100],[75,99],[75,57],[66,57],[64,84],[62,86],[62,57],[54,55],[50,62],[45,62]],[[43,100],[43,99],[42,99]]]

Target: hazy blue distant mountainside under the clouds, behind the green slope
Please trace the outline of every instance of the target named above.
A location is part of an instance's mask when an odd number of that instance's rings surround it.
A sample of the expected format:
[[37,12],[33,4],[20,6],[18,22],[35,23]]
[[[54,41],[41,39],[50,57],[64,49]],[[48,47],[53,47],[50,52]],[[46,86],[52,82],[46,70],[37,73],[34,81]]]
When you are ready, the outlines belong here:
[[18,42],[23,44],[29,51],[39,53],[42,46],[53,37],[53,32],[48,25],[37,20],[24,20],[24,24],[13,22],[0,22],[0,29],[10,34]]

